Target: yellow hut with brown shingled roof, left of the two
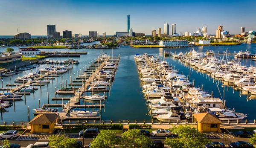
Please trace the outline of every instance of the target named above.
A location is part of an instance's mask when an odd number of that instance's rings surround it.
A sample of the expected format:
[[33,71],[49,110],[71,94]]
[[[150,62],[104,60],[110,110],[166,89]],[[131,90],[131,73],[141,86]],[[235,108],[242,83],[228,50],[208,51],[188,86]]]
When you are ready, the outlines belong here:
[[55,121],[58,118],[57,114],[43,113],[35,116],[35,118],[29,122],[31,126],[30,133],[52,133],[55,126]]

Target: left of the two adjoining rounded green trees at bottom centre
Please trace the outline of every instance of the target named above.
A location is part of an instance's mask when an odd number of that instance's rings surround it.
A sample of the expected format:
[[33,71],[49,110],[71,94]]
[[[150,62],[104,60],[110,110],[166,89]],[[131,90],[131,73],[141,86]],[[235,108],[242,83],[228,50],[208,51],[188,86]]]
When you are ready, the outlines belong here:
[[103,130],[91,142],[91,148],[113,148],[119,143],[116,133],[111,130]]

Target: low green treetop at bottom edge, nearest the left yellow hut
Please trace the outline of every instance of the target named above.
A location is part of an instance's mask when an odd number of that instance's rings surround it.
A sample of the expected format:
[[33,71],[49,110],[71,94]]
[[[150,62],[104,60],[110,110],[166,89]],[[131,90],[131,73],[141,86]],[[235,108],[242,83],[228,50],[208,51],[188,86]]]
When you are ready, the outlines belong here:
[[64,138],[64,135],[52,135],[49,137],[49,146],[52,148],[76,148],[76,139]]

